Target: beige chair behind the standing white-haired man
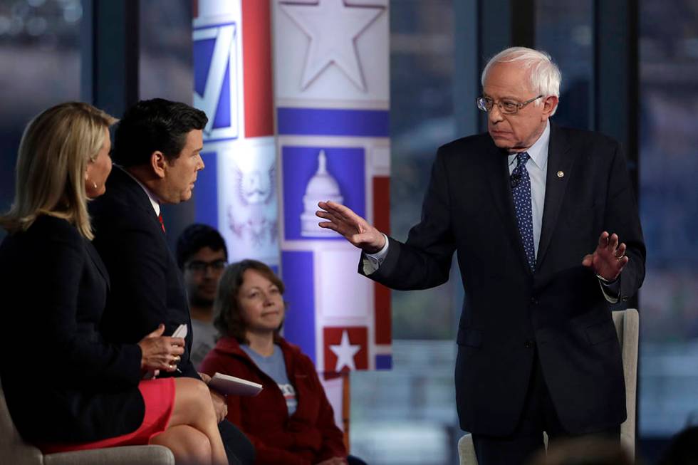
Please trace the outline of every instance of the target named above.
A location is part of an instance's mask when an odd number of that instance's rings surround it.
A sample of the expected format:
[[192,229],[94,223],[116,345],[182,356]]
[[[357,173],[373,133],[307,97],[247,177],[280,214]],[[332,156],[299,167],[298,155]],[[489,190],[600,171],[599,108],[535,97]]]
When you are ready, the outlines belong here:
[[[613,312],[613,323],[618,333],[620,350],[623,354],[623,373],[625,375],[625,408],[627,419],[620,425],[620,442],[632,459],[635,459],[635,401],[637,399],[637,343],[640,334],[640,315],[635,308]],[[548,437],[543,433],[548,444]],[[464,435],[458,442],[460,465],[477,465],[473,439]]]

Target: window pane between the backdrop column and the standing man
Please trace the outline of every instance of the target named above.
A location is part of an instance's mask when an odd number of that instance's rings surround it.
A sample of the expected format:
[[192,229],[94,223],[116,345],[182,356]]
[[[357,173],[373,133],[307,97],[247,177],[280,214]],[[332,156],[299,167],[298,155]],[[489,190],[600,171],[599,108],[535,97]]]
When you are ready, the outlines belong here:
[[[437,147],[455,135],[451,0],[390,2],[391,236],[420,219]],[[452,286],[392,293],[393,338],[452,339]]]

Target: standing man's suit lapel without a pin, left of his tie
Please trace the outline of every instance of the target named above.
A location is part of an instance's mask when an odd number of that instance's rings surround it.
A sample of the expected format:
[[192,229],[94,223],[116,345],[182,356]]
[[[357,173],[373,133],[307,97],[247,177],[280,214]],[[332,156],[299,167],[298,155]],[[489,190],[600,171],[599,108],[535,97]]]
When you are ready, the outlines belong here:
[[531,268],[528,266],[526,252],[523,250],[519,226],[516,224],[516,211],[514,211],[514,199],[511,197],[511,185],[509,184],[509,158],[504,150],[501,150],[491,142],[489,153],[485,160],[489,163],[486,177],[489,179],[489,186],[492,191],[492,199],[504,224],[504,232],[509,237],[514,250],[519,251],[521,265],[528,273]]

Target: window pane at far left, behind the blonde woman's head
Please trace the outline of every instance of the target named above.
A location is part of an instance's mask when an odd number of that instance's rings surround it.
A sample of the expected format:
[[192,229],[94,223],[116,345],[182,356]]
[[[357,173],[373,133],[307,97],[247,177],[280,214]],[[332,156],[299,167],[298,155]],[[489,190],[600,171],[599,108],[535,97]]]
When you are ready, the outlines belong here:
[[[80,100],[82,15],[79,0],[0,3],[0,211],[14,198],[26,123],[51,105]],[[0,239],[4,234],[0,229]]]

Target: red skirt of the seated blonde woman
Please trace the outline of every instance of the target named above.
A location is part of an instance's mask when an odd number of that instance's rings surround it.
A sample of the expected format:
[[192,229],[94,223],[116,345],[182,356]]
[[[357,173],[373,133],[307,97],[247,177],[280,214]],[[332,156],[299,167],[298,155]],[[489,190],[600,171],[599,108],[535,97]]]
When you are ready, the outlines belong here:
[[[150,444],[150,439],[167,429],[175,407],[175,378],[147,380],[138,383],[138,390],[145,403],[145,415],[140,427],[134,432],[93,442],[75,444],[38,444],[44,454],[55,452],[84,451],[103,447],[140,446]],[[108,419],[105,419],[108,421]]]

